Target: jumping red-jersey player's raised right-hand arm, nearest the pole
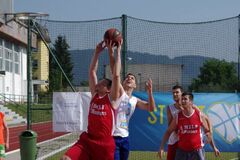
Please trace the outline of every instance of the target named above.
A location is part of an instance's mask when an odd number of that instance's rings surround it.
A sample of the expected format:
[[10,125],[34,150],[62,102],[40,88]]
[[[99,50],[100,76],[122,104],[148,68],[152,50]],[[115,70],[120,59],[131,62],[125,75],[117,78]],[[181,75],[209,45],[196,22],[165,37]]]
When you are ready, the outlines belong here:
[[117,99],[120,97],[120,89],[121,89],[121,47],[122,41],[117,45],[117,55],[116,61],[113,67],[113,74],[112,74],[112,87],[110,92],[110,97],[112,100],[113,108],[116,109],[118,105],[116,104]]

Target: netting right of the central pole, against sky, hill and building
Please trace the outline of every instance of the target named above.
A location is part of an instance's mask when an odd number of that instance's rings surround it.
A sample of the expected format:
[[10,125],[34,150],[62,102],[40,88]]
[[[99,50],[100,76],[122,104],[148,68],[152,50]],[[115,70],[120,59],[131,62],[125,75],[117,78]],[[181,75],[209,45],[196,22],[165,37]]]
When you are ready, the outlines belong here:
[[129,17],[127,23],[128,71],[139,75],[140,84],[151,77],[156,91],[170,91],[176,83],[188,88],[210,58],[237,66],[237,17],[188,24]]

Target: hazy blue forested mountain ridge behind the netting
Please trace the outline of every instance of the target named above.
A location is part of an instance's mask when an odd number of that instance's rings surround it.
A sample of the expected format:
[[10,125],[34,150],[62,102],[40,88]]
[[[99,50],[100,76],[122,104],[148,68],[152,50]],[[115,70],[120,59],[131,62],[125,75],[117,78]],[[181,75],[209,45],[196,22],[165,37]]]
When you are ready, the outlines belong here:
[[[71,50],[71,59],[74,64],[73,67],[73,84],[80,85],[82,81],[88,81],[88,70],[91,57],[94,50]],[[188,86],[191,84],[193,78],[199,74],[199,69],[203,62],[211,59],[203,56],[181,56],[170,59],[166,55],[153,55],[149,53],[131,52],[127,53],[127,57],[132,60],[127,61],[128,64],[179,64],[183,65],[183,85]],[[109,64],[107,51],[104,51],[99,59],[98,77],[103,77],[104,65]]]

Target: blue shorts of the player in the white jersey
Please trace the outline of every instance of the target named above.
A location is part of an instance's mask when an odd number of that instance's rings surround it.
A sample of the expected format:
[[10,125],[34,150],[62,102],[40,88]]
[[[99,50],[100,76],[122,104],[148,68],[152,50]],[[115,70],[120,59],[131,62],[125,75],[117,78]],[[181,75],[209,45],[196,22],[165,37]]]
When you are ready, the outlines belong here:
[[115,136],[115,153],[114,160],[127,160],[129,155],[129,141],[128,137]]

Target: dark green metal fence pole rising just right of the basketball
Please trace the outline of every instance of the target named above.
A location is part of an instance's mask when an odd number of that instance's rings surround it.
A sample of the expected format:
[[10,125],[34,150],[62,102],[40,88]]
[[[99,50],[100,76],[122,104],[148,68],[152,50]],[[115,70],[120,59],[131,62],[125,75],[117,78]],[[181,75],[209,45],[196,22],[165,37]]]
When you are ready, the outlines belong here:
[[123,47],[122,47],[122,79],[126,76],[126,54],[127,54],[127,15],[122,15],[122,36],[123,36]]

